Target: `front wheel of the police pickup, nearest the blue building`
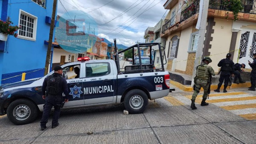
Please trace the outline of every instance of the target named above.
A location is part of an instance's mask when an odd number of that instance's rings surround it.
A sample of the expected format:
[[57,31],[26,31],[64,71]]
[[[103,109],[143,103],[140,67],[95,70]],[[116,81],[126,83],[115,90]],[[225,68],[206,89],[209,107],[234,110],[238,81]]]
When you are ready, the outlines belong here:
[[13,124],[29,124],[38,116],[38,107],[29,100],[18,99],[7,108],[7,117]]

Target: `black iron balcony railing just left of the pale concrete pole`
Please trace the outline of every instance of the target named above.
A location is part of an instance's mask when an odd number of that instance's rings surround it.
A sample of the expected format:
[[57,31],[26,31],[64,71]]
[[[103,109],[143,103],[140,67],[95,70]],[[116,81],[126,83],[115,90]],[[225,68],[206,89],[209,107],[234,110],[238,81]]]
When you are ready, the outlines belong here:
[[199,3],[200,3],[200,0],[195,0],[194,3],[189,5],[186,9],[184,9],[180,15],[180,22],[182,22],[182,21],[188,19],[189,17],[192,17],[192,15],[198,13],[199,12]]

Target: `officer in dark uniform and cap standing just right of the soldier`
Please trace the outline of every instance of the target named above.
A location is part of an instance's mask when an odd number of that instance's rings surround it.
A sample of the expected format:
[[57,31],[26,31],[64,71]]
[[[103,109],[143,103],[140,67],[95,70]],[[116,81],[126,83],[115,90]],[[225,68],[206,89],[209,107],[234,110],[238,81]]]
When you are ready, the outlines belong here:
[[230,75],[234,73],[234,62],[230,60],[231,54],[228,53],[226,58],[222,59],[218,66],[221,67],[221,75],[219,78],[218,88],[215,89],[215,92],[220,92],[221,85],[224,81],[224,89],[223,92],[227,92],[227,85],[230,78]]

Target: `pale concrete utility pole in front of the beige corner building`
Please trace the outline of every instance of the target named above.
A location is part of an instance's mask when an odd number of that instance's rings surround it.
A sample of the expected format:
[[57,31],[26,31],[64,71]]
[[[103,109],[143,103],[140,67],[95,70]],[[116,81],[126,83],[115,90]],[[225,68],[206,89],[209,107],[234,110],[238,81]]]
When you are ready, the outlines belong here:
[[200,28],[199,28],[199,38],[198,38],[198,48],[195,53],[195,63],[194,63],[194,71],[192,75],[192,83],[191,86],[194,85],[194,78],[196,74],[196,67],[201,63],[202,55],[203,55],[203,48],[204,48],[204,37],[205,37],[205,30],[206,30],[206,23],[207,23],[207,15],[208,15],[208,7],[209,7],[209,0],[201,0],[200,5],[203,3],[201,18],[198,17],[198,21],[200,18]]

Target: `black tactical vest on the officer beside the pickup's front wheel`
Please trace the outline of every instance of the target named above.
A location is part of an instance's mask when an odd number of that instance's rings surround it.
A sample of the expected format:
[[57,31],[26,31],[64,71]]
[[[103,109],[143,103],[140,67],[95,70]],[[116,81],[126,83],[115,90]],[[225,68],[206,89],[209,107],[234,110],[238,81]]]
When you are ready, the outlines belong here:
[[49,95],[58,95],[61,92],[60,82],[61,76],[53,77],[52,75],[49,76],[47,81],[47,93]]

